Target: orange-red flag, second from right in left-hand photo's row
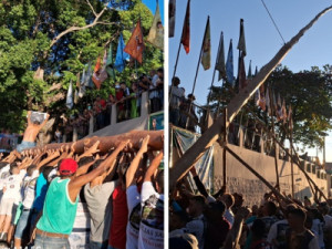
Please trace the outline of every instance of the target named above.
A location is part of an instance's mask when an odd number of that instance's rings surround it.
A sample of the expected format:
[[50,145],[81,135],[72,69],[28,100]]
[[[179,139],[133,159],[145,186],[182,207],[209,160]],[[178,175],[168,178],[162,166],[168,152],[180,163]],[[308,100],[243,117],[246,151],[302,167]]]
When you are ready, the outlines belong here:
[[141,19],[137,21],[136,28],[128,40],[124,52],[136,59],[141,64],[143,63],[143,52],[145,50],[143,32],[141,27]]

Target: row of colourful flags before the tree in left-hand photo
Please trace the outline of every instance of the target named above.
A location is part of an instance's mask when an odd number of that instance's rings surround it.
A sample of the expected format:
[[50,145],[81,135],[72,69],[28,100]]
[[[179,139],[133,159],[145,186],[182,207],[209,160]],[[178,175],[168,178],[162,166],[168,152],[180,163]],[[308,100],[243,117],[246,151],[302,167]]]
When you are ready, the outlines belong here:
[[[164,50],[164,28],[160,18],[159,3],[157,1],[157,7],[155,15],[153,19],[149,33],[146,41],[153,46]],[[113,49],[112,42],[107,50],[104,51],[103,58],[98,55],[96,64],[92,70],[92,63],[89,62],[84,66],[82,76],[81,73],[76,75],[76,87],[73,93],[73,85],[70,82],[70,86],[66,94],[66,107],[72,108],[74,104],[79,102],[79,98],[83,97],[86,87],[93,89],[94,86],[100,90],[102,83],[108,77],[115,80],[115,70],[122,73],[126,66],[129,59],[136,60],[139,64],[143,64],[144,60],[145,43],[142,30],[141,19],[137,21],[135,29],[127,43],[125,44],[123,34],[120,33],[115,61],[113,61]],[[87,70],[86,70],[87,66]]]

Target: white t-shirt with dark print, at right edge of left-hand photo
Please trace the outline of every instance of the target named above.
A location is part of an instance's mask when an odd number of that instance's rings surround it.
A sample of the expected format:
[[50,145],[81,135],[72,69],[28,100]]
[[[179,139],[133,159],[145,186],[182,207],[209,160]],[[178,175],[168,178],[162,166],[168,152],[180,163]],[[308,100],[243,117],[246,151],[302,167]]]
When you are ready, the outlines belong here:
[[159,195],[151,181],[142,186],[142,220],[138,248],[164,248],[164,195]]

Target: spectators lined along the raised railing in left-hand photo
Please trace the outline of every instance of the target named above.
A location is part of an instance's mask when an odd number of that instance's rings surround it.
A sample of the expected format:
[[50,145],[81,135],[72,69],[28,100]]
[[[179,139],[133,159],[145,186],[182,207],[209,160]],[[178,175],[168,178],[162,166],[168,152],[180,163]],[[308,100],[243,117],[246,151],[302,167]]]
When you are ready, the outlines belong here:
[[107,100],[97,95],[92,104],[87,104],[81,113],[66,118],[62,116],[61,125],[54,134],[54,141],[62,143],[63,135],[72,137],[73,129],[77,131],[77,138],[89,134],[90,118],[93,116],[93,131],[111,125],[112,106],[116,105],[116,122],[133,120],[141,116],[142,93],[147,92],[149,112],[155,113],[164,108],[164,69],[152,70],[149,75],[143,74],[137,81],[128,85],[125,82],[115,84],[115,94]]

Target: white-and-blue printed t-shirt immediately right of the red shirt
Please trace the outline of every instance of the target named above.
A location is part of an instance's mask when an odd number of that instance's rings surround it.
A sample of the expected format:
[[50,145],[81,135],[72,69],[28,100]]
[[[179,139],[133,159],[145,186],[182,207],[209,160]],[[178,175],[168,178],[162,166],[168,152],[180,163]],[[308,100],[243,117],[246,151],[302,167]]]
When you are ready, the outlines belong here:
[[126,248],[138,248],[138,235],[141,224],[141,195],[137,186],[127,188],[128,224]]

